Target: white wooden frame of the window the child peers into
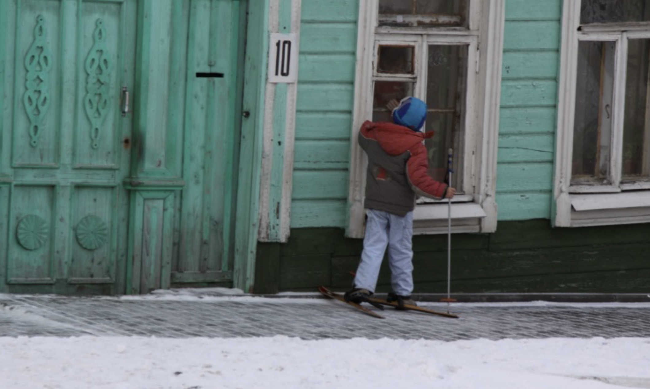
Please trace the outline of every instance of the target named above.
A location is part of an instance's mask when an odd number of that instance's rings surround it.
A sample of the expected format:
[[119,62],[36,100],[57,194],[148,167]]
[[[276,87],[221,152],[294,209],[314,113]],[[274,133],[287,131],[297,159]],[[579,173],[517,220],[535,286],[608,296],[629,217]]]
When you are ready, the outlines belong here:
[[[350,182],[348,191],[348,220],[346,236],[361,238],[365,232],[365,153],[358,145],[357,135],[361,123],[372,118],[372,85],[374,58],[378,41],[382,43],[415,42],[426,45],[428,35],[443,36],[435,43],[469,44],[476,49],[472,71],[468,75],[465,115],[465,159],[463,185],[473,188],[473,193],[457,196],[448,207],[447,200],[427,201],[418,204],[413,212],[413,233],[447,233],[449,209],[452,232],[493,232],[497,229],[497,203],[495,201],[497,176],[497,141],[499,136],[499,102],[501,63],[503,51],[505,0],[468,0],[469,32],[456,28],[417,29],[415,27],[378,27],[378,1],[359,2],[359,27],[357,40],[357,65],[354,99],[354,117],[350,132]],[[417,30],[421,37],[391,35],[392,32]],[[444,44],[444,43],[441,43]],[[416,55],[416,69],[423,58]],[[422,62],[424,61],[424,62]],[[402,75],[403,76],[403,75]],[[395,78],[403,78],[396,75]],[[426,80],[416,84],[414,94],[424,96]],[[470,131],[469,129],[474,129]],[[457,204],[453,204],[457,203]]]

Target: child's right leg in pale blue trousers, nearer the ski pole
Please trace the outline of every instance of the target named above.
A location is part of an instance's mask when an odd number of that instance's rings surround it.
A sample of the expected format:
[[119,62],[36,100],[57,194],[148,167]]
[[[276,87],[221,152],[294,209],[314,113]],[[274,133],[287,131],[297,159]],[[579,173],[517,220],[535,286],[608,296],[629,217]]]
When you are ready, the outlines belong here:
[[413,212],[404,217],[391,215],[388,258],[391,265],[391,285],[399,296],[413,292]]

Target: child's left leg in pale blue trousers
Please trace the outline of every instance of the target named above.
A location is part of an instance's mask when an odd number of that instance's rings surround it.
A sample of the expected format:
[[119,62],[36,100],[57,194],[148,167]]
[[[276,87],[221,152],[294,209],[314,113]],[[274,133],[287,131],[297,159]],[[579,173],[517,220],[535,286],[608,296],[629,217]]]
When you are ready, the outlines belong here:
[[383,253],[388,244],[389,213],[368,209],[365,237],[363,238],[363,253],[361,263],[354,277],[354,287],[368,289],[374,293],[382,266]]

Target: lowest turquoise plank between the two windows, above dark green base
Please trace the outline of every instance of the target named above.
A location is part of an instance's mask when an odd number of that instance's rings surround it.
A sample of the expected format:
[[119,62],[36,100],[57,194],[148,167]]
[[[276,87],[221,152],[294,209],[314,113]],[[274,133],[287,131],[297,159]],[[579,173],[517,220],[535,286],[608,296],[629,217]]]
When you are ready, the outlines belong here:
[[[499,221],[551,218],[551,192],[497,193]],[[498,228],[498,227],[497,227]]]

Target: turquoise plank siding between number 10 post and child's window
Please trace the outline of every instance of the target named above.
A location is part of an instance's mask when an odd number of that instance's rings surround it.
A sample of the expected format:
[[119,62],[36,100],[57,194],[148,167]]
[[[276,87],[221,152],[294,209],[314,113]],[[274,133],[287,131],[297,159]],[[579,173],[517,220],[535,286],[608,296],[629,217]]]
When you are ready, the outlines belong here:
[[291,228],[344,227],[358,8],[302,2]]

